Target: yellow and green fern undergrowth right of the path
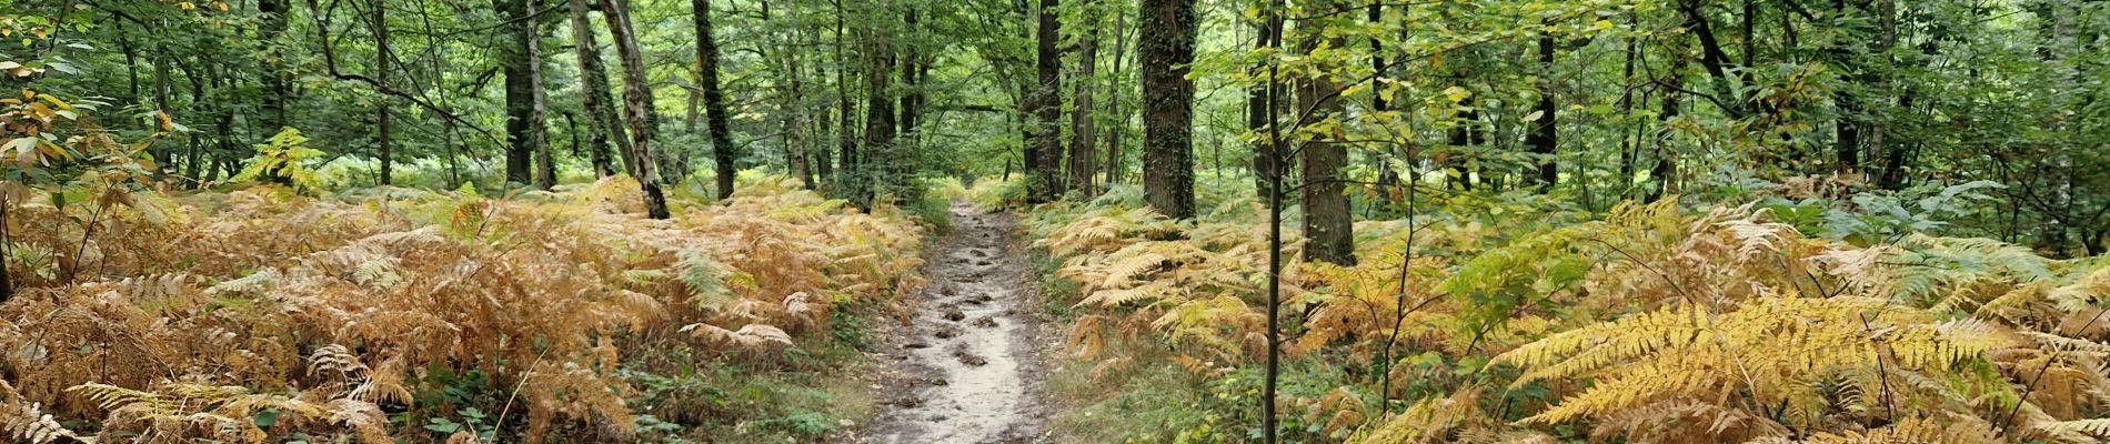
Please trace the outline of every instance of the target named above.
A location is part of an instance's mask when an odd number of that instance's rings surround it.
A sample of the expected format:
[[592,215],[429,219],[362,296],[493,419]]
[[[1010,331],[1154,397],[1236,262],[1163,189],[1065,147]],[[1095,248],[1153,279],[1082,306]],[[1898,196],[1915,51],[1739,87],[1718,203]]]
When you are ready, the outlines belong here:
[[[1910,229],[1804,234],[1777,217],[1781,198],[1589,213],[1422,196],[1414,227],[1357,223],[1355,267],[1298,263],[1285,231],[1285,440],[2110,438],[2106,259]],[[1074,322],[1055,377],[1078,404],[1057,419],[1072,438],[1260,438],[1266,213],[1215,202],[1171,221],[1116,187],[1032,210],[1053,274],[1076,284],[1057,309]],[[1937,223],[1838,227],[1886,225]]]

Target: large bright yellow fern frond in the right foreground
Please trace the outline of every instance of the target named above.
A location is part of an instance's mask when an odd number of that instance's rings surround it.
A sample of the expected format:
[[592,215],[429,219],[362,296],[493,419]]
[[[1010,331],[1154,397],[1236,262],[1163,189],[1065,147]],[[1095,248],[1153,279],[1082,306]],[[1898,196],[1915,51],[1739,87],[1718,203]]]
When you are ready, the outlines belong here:
[[[1526,368],[1515,385],[1593,377],[1526,423],[1601,417],[1658,400],[1751,398],[1758,406],[1821,406],[1806,387],[1842,372],[1895,368],[1943,379],[1969,360],[2004,347],[1983,322],[1933,324],[1931,316],[1882,299],[1758,299],[1730,314],[1671,307],[1566,330],[1500,354]],[[1886,379],[1886,377],[1878,377]],[[1867,385],[1869,381],[1853,381]],[[1880,383],[1880,381],[1878,381]],[[1867,387],[1863,387],[1867,389]],[[1907,389],[1907,387],[1884,387]],[[1789,421],[1817,421],[1791,412]]]

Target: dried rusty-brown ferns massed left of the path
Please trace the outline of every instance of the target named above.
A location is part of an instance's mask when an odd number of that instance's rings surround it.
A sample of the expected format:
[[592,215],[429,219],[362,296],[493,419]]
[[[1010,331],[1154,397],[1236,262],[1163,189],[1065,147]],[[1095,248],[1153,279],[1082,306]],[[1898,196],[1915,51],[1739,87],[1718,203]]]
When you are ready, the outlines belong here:
[[[106,219],[101,231],[122,236],[97,236],[93,257],[53,259],[114,278],[19,282],[23,297],[0,305],[0,368],[21,372],[11,383],[30,406],[148,442],[300,429],[384,442],[376,402],[439,408],[411,396],[433,389],[426,370],[479,370],[532,381],[519,404],[523,440],[538,440],[563,421],[631,425],[616,366],[635,349],[612,337],[738,320],[755,326],[720,351],[745,351],[743,339],[793,347],[838,303],[888,303],[922,284],[922,227],[895,208],[855,213],[779,181],[648,221],[635,194],[606,179],[525,198],[331,200],[272,185],[146,196]],[[30,246],[76,242],[63,227],[78,217],[11,213]],[[257,408],[295,408],[285,421],[300,425],[257,438],[243,417]]]

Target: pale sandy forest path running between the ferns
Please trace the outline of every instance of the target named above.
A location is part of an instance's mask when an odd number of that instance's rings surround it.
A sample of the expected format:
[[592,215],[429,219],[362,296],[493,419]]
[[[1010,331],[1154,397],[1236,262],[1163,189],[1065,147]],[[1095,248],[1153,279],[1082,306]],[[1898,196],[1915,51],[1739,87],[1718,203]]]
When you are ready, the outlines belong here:
[[[888,332],[899,372],[884,377],[863,442],[1049,442],[1047,372],[1036,341],[1032,265],[1013,255],[1013,219],[952,204],[952,234],[931,253],[909,326]],[[884,362],[882,362],[884,366]]]

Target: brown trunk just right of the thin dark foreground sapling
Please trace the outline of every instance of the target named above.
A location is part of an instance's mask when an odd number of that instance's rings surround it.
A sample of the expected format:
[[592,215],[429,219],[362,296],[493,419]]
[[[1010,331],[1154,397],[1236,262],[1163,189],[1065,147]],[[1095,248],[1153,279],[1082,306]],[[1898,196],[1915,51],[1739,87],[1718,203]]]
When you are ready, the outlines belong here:
[[[1340,4],[1321,0],[1315,6],[1317,11],[1336,11]],[[1298,23],[1298,32],[1304,34],[1298,38],[1298,53],[1312,55],[1321,44],[1340,48],[1340,38],[1329,38],[1323,29],[1323,19],[1304,19],[1304,23]],[[1298,76],[1300,112],[1293,116],[1308,116],[1298,118],[1298,126],[1346,118],[1340,103],[1340,84],[1327,78],[1329,72],[1334,69],[1325,67]],[[1348,166],[1348,147],[1336,143],[1331,133],[1312,135],[1298,149],[1298,168],[1304,173],[1300,187],[1304,202],[1304,261],[1355,265],[1355,219],[1348,210],[1346,183],[1342,183],[1346,177],[1340,173]]]

